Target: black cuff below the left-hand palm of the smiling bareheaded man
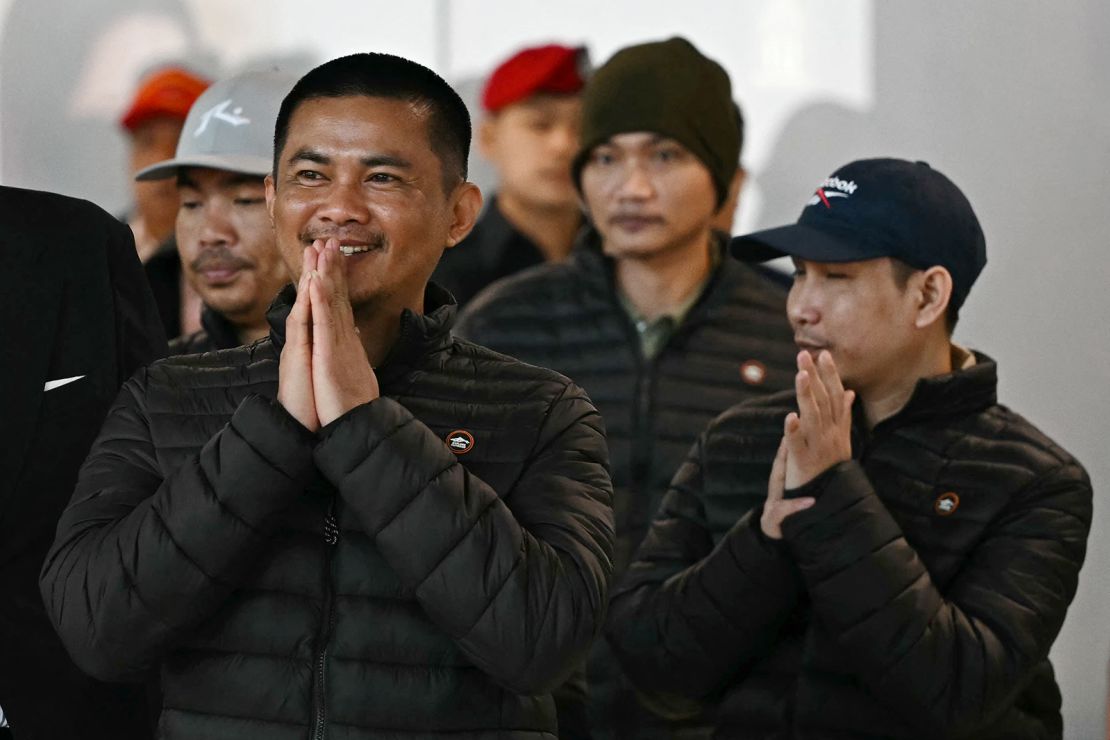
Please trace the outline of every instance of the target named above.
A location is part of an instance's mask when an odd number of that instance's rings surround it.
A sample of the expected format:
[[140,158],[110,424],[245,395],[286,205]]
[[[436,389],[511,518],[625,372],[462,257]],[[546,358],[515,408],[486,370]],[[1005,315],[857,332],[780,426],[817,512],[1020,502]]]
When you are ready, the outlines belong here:
[[275,398],[246,396],[232,415],[231,426],[285,476],[307,483],[316,437]]

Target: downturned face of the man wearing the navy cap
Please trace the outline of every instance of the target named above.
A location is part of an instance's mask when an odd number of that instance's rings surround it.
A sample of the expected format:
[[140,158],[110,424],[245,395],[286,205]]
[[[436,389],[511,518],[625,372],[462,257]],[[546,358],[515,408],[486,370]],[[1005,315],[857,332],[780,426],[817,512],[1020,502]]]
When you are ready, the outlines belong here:
[[915,377],[921,332],[916,292],[899,285],[889,257],[862,262],[795,259],[787,315],[798,347],[828,349],[846,387],[880,394]]

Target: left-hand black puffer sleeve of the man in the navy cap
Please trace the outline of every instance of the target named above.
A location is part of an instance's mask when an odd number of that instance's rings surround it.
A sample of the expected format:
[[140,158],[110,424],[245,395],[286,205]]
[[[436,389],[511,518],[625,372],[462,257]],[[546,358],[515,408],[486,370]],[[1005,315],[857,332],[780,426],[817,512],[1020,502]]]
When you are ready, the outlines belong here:
[[609,607],[606,636],[644,691],[713,695],[774,642],[799,592],[781,545],[759,530],[760,507],[714,547],[704,445],[678,469]]

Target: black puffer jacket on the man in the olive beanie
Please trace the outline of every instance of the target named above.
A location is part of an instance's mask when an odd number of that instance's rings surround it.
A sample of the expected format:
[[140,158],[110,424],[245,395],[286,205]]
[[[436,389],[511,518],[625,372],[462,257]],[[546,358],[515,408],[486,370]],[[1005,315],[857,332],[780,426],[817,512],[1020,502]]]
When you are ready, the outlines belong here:
[[[670,341],[645,359],[616,295],[613,263],[593,234],[571,261],[528,270],[480,294],[457,332],[567,375],[597,405],[613,460],[615,577],[706,424],[734,404],[790,387],[797,353],[784,287],[722,255]],[[601,641],[591,657],[589,685],[596,737],[670,737]],[[566,703],[561,697],[561,712]],[[683,724],[706,721],[688,717]]]

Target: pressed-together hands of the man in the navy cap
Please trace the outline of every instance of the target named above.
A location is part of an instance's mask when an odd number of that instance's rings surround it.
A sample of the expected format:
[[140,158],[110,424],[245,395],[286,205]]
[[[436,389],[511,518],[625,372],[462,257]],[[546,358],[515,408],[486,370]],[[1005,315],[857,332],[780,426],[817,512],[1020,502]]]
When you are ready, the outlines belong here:
[[845,391],[833,355],[823,351],[814,362],[808,352],[798,353],[798,374],[794,379],[798,413],[786,416],[767,501],[759,525],[771,539],[783,538],[783,520],[808,509],[813,497],[784,498],[787,489],[809,483],[838,463],[851,459],[851,404],[855,391]]

